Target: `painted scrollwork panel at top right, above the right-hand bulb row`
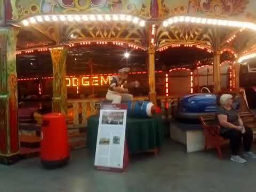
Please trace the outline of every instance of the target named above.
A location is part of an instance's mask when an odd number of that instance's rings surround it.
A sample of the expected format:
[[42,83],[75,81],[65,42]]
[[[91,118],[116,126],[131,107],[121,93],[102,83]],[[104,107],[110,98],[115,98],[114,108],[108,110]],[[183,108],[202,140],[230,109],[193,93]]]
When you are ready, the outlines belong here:
[[254,0],[179,0],[158,1],[159,17],[177,14],[219,18],[256,19]]

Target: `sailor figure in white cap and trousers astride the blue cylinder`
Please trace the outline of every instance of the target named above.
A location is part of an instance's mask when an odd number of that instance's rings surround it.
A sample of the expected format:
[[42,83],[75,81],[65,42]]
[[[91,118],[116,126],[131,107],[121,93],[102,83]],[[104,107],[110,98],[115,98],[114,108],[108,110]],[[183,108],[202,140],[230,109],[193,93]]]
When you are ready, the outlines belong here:
[[133,100],[133,96],[128,93],[127,78],[130,68],[119,69],[117,76],[112,76],[106,99],[112,103],[128,102]]

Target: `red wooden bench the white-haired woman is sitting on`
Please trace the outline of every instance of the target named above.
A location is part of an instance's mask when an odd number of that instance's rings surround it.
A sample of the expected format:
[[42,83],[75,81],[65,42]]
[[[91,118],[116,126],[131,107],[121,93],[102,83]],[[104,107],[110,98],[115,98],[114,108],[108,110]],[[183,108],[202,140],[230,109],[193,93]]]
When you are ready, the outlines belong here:
[[[250,127],[253,131],[253,138],[256,135],[256,117],[252,111],[239,113],[244,125]],[[204,129],[205,150],[210,148],[217,149],[218,157],[222,158],[221,146],[227,142],[220,136],[220,126],[215,120],[215,115],[205,115],[200,117]]]

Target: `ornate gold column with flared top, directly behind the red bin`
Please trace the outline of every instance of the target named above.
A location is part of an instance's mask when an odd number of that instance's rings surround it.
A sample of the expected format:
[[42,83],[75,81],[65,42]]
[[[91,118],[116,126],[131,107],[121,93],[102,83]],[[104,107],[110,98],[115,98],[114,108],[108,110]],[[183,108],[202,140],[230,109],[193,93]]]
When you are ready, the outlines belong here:
[[52,111],[67,114],[66,60],[67,47],[55,47],[50,50],[53,69]]

